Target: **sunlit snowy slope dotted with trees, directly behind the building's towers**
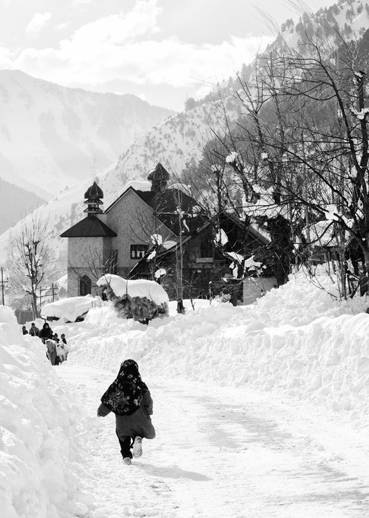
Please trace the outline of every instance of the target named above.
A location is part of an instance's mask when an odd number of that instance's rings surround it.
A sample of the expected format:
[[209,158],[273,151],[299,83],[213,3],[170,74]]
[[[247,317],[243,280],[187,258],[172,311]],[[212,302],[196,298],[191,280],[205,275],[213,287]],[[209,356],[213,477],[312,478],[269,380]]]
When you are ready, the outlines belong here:
[[[239,114],[235,107],[239,105],[228,103],[228,116],[233,120]],[[100,175],[104,207],[119,196],[129,180],[145,179],[157,162],[168,169],[175,182],[174,175],[179,175],[187,162],[201,157],[213,130],[224,132],[224,126],[222,103],[217,101],[181,112],[152,128],[129,146],[114,169]],[[66,188],[35,211],[51,228],[51,245],[61,273],[66,268],[66,239],[59,236],[84,217],[83,195],[91,183],[92,178],[89,178]],[[17,225],[14,231],[17,232]],[[0,236],[0,262],[6,261],[9,236],[10,230]]]

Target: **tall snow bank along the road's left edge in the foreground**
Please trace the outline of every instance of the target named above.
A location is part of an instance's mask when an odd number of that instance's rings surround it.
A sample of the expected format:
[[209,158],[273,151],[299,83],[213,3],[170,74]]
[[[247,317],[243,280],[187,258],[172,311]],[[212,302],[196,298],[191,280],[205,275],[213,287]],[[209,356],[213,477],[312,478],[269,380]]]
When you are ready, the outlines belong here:
[[3,306],[0,394],[1,516],[87,515],[92,503],[79,476],[78,408],[46,361],[41,340],[22,336]]

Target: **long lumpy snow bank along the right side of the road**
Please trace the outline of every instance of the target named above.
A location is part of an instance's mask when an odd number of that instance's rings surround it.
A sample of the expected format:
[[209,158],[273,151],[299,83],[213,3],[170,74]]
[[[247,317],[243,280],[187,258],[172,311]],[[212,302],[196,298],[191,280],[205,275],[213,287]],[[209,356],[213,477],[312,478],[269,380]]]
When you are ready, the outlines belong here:
[[[336,293],[329,276],[318,282]],[[250,306],[188,307],[186,316],[155,320],[147,328],[132,321],[94,327],[96,309],[86,322],[89,349],[80,334],[71,361],[115,372],[133,357],[146,379],[185,377],[275,390],[368,425],[368,300],[339,303],[332,295],[300,273]]]

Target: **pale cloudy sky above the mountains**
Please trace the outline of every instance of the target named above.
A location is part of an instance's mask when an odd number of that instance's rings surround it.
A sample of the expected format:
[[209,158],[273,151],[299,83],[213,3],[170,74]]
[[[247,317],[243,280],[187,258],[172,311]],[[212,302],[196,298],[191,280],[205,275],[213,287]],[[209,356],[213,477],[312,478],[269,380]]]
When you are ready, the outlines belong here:
[[[0,0],[0,68],[182,110],[271,40],[294,0]],[[309,8],[329,6],[314,0]]]

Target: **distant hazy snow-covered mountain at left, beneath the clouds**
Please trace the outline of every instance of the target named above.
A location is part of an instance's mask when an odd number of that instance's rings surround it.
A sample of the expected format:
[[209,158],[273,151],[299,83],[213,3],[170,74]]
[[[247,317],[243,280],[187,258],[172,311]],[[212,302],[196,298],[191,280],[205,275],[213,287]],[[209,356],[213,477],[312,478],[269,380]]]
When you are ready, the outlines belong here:
[[133,95],[98,94],[0,71],[0,178],[51,198],[103,170],[173,112]]

